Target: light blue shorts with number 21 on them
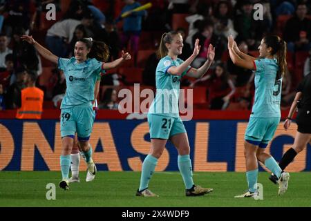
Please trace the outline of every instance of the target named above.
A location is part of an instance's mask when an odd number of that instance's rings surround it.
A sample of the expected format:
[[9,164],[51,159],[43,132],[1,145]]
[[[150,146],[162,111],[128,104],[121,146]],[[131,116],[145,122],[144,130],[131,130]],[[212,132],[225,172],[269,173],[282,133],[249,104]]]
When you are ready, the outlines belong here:
[[169,140],[169,137],[173,135],[186,133],[186,128],[180,117],[148,114],[148,123],[151,139]]

